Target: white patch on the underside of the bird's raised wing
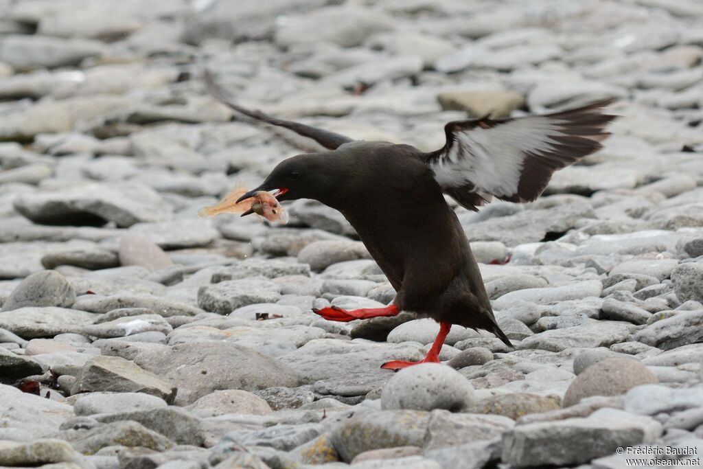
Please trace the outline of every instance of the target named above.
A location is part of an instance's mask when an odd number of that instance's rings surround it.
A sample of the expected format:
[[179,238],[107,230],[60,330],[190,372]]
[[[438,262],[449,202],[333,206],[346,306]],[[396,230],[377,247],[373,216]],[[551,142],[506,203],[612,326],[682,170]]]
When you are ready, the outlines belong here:
[[550,136],[565,135],[560,124],[550,117],[529,117],[457,131],[445,157],[430,166],[442,187],[471,183],[478,192],[509,196],[517,192],[527,153],[555,150]]

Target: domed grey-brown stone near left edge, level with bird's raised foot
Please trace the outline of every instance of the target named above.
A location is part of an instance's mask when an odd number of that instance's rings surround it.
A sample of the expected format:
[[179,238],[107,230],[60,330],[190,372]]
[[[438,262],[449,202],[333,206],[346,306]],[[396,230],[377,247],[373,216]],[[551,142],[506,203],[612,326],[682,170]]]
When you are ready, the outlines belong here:
[[2,310],[24,307],[71,307],[76,292],[66,278],[57,271],[45,270],[32,274],[12,291]]

